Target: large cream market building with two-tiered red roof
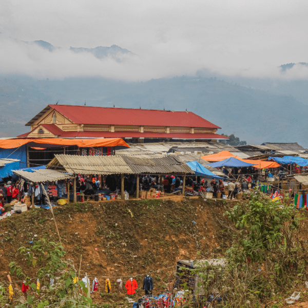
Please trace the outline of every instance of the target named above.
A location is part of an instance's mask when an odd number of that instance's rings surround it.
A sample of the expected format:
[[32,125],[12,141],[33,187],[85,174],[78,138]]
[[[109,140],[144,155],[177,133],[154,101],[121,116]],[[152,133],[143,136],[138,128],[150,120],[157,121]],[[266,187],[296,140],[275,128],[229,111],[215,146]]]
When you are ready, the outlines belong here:
[[18,138],[123,138],[132,143],[216,142],[220,127],[188,111],[48,105]]

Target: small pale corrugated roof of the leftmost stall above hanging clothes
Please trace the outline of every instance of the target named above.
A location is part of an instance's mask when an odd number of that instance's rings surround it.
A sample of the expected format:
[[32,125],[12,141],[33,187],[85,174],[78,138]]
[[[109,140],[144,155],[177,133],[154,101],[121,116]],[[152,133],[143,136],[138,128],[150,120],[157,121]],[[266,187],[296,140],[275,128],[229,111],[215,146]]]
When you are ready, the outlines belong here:
[[29,172],[25,170],[13,170],[15,175],[21,176],[22,178],[33,183],[36,182],[42,183],[48,181],[52,182],[52,181],[65,180],[71,178],[70,175],[51,169],[38,169],[33,171],[34,172]]

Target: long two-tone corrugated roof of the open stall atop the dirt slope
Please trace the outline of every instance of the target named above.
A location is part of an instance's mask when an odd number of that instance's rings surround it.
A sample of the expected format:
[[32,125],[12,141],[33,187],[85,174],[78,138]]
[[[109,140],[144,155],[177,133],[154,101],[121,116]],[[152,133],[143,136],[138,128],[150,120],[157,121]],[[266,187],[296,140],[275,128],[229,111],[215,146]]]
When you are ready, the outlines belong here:
[[176,156],[142,158],[138,156],[55,155],[47,168],[63,167],[75,174],[191,174],[191,169]]

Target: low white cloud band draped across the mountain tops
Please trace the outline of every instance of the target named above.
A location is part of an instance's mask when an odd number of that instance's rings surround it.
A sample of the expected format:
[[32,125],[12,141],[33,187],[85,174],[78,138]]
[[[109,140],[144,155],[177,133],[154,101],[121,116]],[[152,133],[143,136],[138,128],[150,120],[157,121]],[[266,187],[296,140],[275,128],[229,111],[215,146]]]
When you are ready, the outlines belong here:
[[[74,76],[101,76],[124,81],[146,81],[176,75],[194,75],[206,70],[215,75],[246,78],[308,79],[308,67],[294,65],[282,72],[277,65],[253,63],[248,50],[232,52],[229,48],[201,48],[185,40],[160,42],[144,53],[121,53],[97,59],[89,52],[75,53],[68,48],[52,52],[34,43],[0,35],[1,69],[7,73],[26,74],[36,78],[63,79]],[[86,47],[86,46],[85,46]],[[202,49],[202,51],[200,50]]]

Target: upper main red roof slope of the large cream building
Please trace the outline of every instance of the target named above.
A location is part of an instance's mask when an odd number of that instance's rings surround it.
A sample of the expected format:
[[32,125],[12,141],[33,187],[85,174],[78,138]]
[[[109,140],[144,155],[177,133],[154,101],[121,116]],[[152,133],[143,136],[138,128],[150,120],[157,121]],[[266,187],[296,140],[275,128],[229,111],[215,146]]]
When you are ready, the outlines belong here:
[[[194,112],[73,105],[48,105],[75,124],[220,128]],[[30,121],[31,122],[31,121]],[[29,123],[30,123],[29,122]]]

